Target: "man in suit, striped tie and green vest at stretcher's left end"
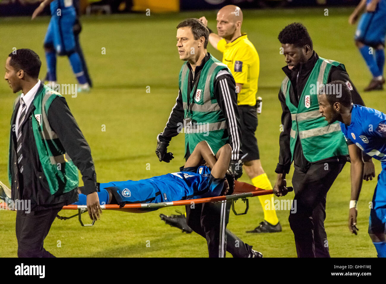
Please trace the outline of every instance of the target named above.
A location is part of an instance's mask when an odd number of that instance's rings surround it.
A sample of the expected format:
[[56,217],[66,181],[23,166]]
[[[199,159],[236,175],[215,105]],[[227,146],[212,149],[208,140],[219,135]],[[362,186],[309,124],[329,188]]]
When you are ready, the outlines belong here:
[[101,211],[90,147],[64,97],[38,79],[40,67],[30,49],[10,53],[5,64],[10,88],[23,91],[14,103],[8,160],[19,257],[54,257],[44,238],[62,206],[78,200],[78,169],[90,218]]

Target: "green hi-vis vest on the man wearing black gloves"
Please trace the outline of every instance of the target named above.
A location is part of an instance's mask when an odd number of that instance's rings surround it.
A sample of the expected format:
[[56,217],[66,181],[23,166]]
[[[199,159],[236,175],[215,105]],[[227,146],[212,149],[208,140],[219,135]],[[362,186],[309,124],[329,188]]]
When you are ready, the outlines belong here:
[[191,118],[193,124],[189,128],[184,125],[185,151],[189,147],[190,153],[192,153],[200,141],[206,140],[213,152],[217,153],[218,149],[228,143],[225,117],[215,98],[213,86],[217,73],[223,69],[232,74],[225,64],[210,55],[210,59],[201,70],[200,79],[195,83],[197,87],[193,88],[189,94],[189,104],[188,79],[190,69],[185,63],[179,71],[179,89],[182,94],[185,118]]

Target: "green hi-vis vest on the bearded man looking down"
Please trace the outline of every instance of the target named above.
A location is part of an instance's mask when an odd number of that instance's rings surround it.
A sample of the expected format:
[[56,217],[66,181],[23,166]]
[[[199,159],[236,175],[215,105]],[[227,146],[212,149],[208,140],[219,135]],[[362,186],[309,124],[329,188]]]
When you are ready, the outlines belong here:
[[291,162],[298,135],[303,154],[309,162],[349,154],[339,122],[328,124],[319,112],[317,96],[320,89],[326,85],[332,66],[340,66],[345,70],[343,64],[319,57],[301,93],[298,107],[290,100],[291,81],[289,78],[284,78],[281,84],[281,91],[291,112],[292,127],[289,142],[292,154]]

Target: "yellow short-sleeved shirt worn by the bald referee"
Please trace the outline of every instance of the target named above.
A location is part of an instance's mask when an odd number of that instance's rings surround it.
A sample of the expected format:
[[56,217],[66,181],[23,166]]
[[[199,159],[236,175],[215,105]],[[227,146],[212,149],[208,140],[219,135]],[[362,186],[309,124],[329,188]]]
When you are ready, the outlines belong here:
[[238,105],[256,105],[257,80],[259,79],[260,60],[252,42],[243,33],[232,42],[222,39],[217,49],[223,53],[222,63],[232,71],[235,82],[243,84],[237,95]]

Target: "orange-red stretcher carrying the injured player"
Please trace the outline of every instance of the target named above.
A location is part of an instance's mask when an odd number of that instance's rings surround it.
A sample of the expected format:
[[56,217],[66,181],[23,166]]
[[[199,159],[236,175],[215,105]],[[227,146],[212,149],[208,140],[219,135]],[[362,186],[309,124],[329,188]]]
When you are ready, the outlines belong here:
[[[287,189],[288,191],[293,191],[292,187],[288,187]],[[129,213],[145,213],[145,212],[150,212],[150,211],[157,210],[159,208],[164,208],[169,206],[193,205],[193,204],[208,203],[208,202],[219,202],[219,203],[232,202],[233,213],[235,215],[245,215],[247,214],[249,209],[249,201],[247,198],[266,195],[266,194],[272,194],[272,193],[273,193],[273,190],[264,190],[261,188],[257,188],[249,183],[235,181],[235,189],[232,195],[215,196],[210,198],[178,200],[178,201],[169,201],[169,202],[160,202],[160,203],[130,203],[124,206],[120,206],[117,204],[106,204],[106,205],[100,205],[100,208],[103,210],[124,209],[126,212],[129,212]],[[244,212],[241,212],[241,213],[237,213],[235,210],[235,202],[239,199],[241,199],[245,203],[245,210]],[[58,215],[57,218],[59,218],[60,220],[68,220],[78,216],[78,220],[81,226],[83,227],[93,226],[95,223],[95,220],[93,220],[91,224],[85,224],[81,220],[81,215],[87,212],[86,205],[67,205],[67,206],[63,206],[62,210],[78,210],[78,213],[69,217],[63,217]]]

